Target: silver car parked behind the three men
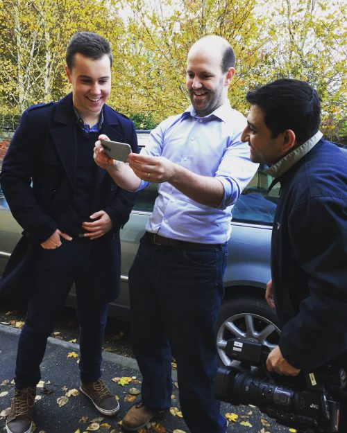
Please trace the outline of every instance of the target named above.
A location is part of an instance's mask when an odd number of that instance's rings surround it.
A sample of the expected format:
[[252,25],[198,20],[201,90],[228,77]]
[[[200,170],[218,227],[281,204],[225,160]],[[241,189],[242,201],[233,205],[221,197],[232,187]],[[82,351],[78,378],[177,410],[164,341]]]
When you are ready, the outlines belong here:
[[[139,146],[146,145],[148,132],[138,131]],[[269,281],[271,229],[278,190],[266,193],[271,177],[258,170],[232,210],[232,234],[228,242],[228,265],[224,276],[225,297],[217,326],[219,360],[230,364],[226,342],[231,337],[247,337],[273,348],[280,329],[276,312],[264,301]],[[151,184],[137,197],[127,224],[121,229],[121,293],[110,304],[109,315],[128,319],[128,270],[133,263],[139,239],[153,209],[157,186]],[[15,247],[22,228],[12,217],[0,189],[0,275]],[[74,306],[74,288],[67,305]]]

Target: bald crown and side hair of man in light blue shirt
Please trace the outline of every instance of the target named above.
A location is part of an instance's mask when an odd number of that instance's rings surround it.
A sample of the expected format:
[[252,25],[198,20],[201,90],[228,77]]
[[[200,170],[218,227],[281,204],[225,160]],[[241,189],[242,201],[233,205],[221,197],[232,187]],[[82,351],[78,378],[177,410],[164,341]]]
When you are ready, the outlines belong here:
[[196,53],[214,58],[219,62],[223,73],[226,73],[229,68],[235,68],[235,53],[229,42],[221,36],[209,35],[199,39],[190,48],[188,59]]

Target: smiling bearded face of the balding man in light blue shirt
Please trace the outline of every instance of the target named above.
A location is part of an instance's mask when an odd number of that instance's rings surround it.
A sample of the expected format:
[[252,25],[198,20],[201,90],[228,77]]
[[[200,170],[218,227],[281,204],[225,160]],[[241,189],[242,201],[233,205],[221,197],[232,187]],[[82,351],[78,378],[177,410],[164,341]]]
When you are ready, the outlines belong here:
[[189,51],[187,59],[187,89],[198,116],[207,116],[226,103],[228,86],[235,73],[221,70],[221,50],[199,46]]

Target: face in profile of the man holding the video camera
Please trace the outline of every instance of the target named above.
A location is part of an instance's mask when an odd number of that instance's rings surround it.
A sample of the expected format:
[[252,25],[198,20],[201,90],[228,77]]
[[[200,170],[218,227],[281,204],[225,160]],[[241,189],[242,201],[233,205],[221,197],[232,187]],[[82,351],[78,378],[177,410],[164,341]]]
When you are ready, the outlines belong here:
[[241,139],[248,141],[251,161],[268,165],[275,164],[294,144],[291,143],[292,136],[289,130],[272,138],[271,130],[264,122],[264,112],[257,105],[251,106]]

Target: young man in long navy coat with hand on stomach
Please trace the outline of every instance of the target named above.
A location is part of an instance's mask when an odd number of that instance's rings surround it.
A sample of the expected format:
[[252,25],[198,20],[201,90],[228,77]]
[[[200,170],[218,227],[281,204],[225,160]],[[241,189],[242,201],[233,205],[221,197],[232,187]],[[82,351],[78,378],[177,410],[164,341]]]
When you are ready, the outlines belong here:
[[119,292],[119,229],[128,221],[135,195],[94,164],[93,148],[103,133],[137,152],[137,137],[133,122],[105,105],[111,89],[109,42],[94,33],[76,33],[66,62],[72,93],[57,103],[26,109],[1,172],[6,200],[24,231],[1,279],[0,294],[28,298],[8,433],[31,432],[46,340],[72,283],[80,326],[81,391],[102,414],[119,411],[101,379],[101,350],[108,303]]

